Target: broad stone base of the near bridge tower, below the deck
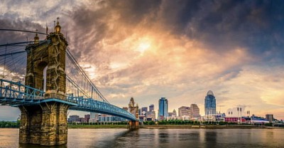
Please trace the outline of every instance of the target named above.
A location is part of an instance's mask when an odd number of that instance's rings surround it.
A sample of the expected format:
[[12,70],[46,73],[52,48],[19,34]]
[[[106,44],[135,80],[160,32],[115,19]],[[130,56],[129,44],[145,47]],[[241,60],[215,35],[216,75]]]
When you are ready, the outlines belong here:
[[45,102],[20,106],[19,143],[55,145],[67,143],[67,110],[69,105]]

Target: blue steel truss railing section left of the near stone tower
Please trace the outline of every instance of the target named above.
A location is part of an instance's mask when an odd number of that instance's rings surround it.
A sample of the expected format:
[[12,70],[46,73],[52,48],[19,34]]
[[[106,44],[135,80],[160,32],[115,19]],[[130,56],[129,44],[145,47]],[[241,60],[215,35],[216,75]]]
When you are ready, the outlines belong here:
[[44,99],[42,90],[31,88],[21,83],[0,79],[0,97],[17,100],[41,100]]

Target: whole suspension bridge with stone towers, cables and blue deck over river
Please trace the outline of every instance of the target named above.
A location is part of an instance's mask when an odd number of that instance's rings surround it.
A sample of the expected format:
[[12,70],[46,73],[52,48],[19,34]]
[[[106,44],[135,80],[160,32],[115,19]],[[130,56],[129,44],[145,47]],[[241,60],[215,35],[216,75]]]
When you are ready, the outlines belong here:
[[23,32],[34,41],[0,45],[0,105],[21,110],[20,143],[66,144],[67,110],[123,117],[138,128],[136,115],[112,105],[72,56],[59,21],[52,33]]

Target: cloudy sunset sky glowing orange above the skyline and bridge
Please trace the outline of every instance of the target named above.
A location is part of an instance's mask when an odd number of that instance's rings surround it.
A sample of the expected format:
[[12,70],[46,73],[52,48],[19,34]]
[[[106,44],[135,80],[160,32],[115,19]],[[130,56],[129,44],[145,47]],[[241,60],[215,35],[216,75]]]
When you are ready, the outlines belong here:
[[[284,120],[284,1],[2,1],[0,28],[45,33],[60,18],[70,51],[111,104],[168,99],[169,112],[212,90],[217,111]],[[33,33],[2,31],[0,44]],[[40,38],[45,38],[40,36]],[[0,107],[0,120],[19,110]],[[71,114],[84,115],[87,112]]]

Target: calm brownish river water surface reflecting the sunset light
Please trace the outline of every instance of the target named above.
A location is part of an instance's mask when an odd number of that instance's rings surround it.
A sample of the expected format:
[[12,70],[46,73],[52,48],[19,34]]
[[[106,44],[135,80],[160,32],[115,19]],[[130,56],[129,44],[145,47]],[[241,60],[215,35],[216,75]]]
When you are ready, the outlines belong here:
[[[0,129],[0,147],[42,146]],[[284,129],[68,129],[68,144],[55,147],[284,147]]]

